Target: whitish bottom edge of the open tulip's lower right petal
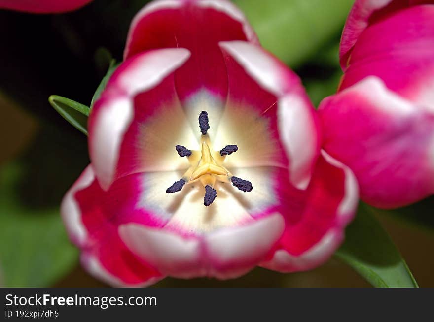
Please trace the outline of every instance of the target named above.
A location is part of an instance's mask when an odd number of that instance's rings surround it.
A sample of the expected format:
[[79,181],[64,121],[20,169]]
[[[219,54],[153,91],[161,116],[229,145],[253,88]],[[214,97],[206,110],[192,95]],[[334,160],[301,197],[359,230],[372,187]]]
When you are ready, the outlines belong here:
[[285,250],[278,250],[271,260],[261,263],[260,266],[279,271],[291,273],[306,271],[324,263],[339,247],[343,235],[338,230],[330,230],[311,249],[299,256],[293,256]]

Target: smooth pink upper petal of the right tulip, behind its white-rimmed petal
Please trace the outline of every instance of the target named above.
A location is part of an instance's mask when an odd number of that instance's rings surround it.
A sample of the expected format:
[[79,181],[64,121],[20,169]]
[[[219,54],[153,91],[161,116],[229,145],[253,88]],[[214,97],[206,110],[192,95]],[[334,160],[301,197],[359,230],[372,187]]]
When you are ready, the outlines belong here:
[[362,32],[340,89],[374,75],[390,90],[434,111],[433,47],[434,5],[401,10]]

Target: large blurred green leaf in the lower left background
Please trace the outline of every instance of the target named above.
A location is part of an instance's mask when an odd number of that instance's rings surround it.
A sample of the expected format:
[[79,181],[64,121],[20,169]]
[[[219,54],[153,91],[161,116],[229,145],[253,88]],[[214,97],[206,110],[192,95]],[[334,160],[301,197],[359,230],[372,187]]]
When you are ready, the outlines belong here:
[[2,286],[47,287],[76,264],[58,207],[33,209],[17,190],[21,163],[0,170],[0,269]]

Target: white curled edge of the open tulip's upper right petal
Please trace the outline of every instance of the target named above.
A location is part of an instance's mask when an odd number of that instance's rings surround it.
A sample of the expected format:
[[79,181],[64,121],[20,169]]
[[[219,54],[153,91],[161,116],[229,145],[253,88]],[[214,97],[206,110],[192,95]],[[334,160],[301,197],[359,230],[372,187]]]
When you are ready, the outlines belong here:
[[[296,91],[289,93],[285,66],[262,48],[245,41],[219,43],[264,90],[278,97],[279,133],[291,159],[290,181],[299,189],[309,184],[313,163],[317,157],[318,137],[313,106]],[[288,85],[288,84],[287,84]],[[300,84],[301,88],[301,84]],[[313,135],[312,135],[313,134]],[[310,140],[300,140],[311,138]]]

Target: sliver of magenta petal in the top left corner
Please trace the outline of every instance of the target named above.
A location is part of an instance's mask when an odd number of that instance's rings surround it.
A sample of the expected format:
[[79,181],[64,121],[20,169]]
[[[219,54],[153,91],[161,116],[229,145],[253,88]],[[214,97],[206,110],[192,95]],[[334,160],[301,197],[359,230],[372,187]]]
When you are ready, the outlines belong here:
[[78,9],[92,0],[0,0],[0,9],[32,13],[61,13]]

